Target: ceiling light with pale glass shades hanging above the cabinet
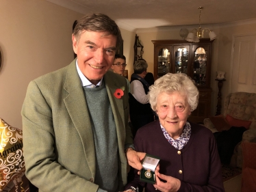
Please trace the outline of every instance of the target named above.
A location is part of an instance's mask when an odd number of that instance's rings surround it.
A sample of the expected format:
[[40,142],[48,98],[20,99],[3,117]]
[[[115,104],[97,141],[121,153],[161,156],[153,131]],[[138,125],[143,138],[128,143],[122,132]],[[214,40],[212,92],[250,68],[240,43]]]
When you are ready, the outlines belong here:
[[209,28],[202,29],[201,28],[201,10],[203,7],[199,7],[199,28],[198,29],[193,29],[192,32],[188,33],[187,40],[188,42],[199,42],[201,38],[203,38],[203,33],[206,31],[209,31],[209,39],[215,40],[216,39],[216,34],[214,31],[211,31]]

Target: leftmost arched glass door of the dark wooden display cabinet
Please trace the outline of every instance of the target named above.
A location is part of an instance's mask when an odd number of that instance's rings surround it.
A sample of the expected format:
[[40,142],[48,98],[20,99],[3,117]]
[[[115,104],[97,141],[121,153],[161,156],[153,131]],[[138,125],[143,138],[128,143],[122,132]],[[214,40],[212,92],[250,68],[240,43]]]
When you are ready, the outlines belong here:
[[170,50],[166,47],[159,49],[157,56],[157,78],[170,72]]

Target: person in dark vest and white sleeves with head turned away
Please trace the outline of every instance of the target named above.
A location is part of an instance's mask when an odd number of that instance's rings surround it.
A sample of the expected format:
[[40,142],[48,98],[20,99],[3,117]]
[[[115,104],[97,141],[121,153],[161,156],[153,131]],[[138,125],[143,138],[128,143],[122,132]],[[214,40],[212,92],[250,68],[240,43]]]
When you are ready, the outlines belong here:
[[135,61],[134,73],[131,74],[131,91],[129,93],[130,119],[133,126],[133,135],[138,129],[154,121],[153,111],[149,104],[149,83],[144,80],[148,64],[144,59]]

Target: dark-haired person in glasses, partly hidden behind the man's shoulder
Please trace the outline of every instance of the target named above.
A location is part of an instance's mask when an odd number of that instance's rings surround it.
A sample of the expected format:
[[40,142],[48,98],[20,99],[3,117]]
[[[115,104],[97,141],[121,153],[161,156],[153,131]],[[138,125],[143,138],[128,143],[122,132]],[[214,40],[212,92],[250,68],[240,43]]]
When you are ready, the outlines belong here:
[[[123,72],[125,71],[126,66],[127,64],[126,64],[125,55],[116,54],[114,59],[114,64],[111,66],[113,72],[123,76]],[[128,79],[126,79],[126,81],[127,81],[128,89],[130,92],[130,82]]]

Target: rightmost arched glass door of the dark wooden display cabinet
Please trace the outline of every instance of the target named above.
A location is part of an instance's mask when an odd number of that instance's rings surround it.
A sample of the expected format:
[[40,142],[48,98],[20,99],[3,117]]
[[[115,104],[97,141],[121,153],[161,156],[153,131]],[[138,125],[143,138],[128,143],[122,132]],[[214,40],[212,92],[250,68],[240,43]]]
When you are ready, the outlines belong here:
[[194,75],[193,79],[196,85],[205,85],[207,74],[207,51],[199,47],[194,51]]

